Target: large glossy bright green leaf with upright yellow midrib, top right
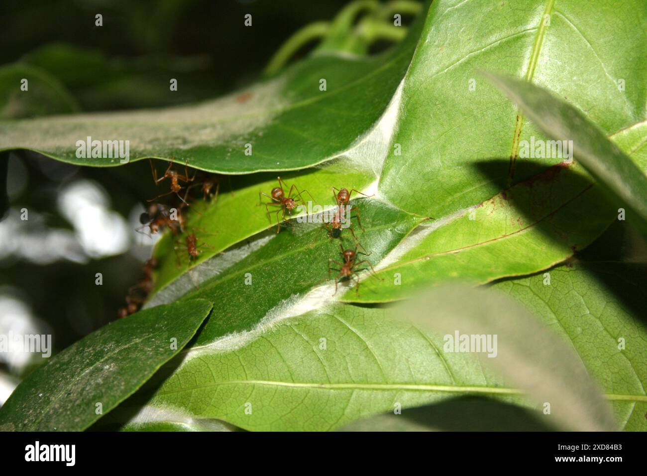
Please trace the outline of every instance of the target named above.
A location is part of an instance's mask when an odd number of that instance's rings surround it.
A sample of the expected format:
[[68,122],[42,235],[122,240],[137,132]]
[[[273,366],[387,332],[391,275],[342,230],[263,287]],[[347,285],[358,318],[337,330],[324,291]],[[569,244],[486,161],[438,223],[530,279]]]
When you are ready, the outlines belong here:
[[[380,193],[442,217],[536,175],[537,161],[518,157],[519,144],[545,137],[479,70],[566,96],[606,135],[644,121],[646,16],[641,0],[598,3],[595,14],[586,2],[434,1],[404,78],[393,138],[401,155],[387,157]],[[617,31],[627,34],[600,34]]]

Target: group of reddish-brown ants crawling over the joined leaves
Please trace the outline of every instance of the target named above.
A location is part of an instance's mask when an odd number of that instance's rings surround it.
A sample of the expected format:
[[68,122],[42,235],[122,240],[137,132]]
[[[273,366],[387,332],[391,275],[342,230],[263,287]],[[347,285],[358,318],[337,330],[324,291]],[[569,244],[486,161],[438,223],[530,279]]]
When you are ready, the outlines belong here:
[[[153,181],[155,185],[159,185],[162,181],[167,180],[170,183],[170,190],[164,194],[161,194],[155,198],[149,199],[149,205],[145,212],[140,215],[140,223],[142,226],[137,229],[138,232],[146,233],[149,236],[151,234],[156,234],[159,232],[168,229],[174,236],[184,234],[186,230],[186,216],[185,212],[188,207],[191,207],[190,203],[197,198],[202,198],[205,202],[215,201],[218,197],[220,190],[220,185],[223,180],[227,179],[227,176],[220,174],[212,174],[210,172],[203,172],[201,170],[195,170],[193,176],[189,176],[188,168],[186,164],[184,165],[184,174],[177,172],[173,168],[173,160],[170,161],[168,168],[162,176],[158,176],[155,166],[153,166],[153,161],[149,159],[151,164],[151,172],[153,174]],[[287,222],[288,218],[286,216],[291,216],[292,212],[299,206],[305,206],[305,201],[303,200],[302,195],[308,194],[311,199],[314,200],[313,196],[307,190],[299,190],[296,185],[292,185],[289,188],[287,194],[285,194],[285,188],[287,185],[285,181],[278,177],[278,187],[272,188],[270,195],[263,192],[259,192],[259,205],[265,205],[265,210],[267,211],[267,216],[270,219],[270,214],[274,213],[276,216],[276,232],[278,233],[281,229],[281,223]],[[285,188],[284,188],[285,187]],[[356,194],[369,197],[366,194],[363,194],[359,190],[348,190],[347,188],[335,188],[332,187],[333,198],[336,203],[334,213],[329,214],[330,219],[328,221],[323,221],[323,227],[327,230],[330,238],[341,238],[342,231],[344,229],[344,210],[349,208],[349,203],[351,200],[351,194],[355,192]],[[182,192],[182,193],[181,193]],[[295,195],[292,195],[296,192]],[[232,191],[232,194],[234,192]],[[265,196],[271,201],[262,202],[262,197]],[[159,199],[162,197],[167,197],[166,203],[159,202]],[[278,207],[276,212],[270,211],[269,207]],[[193,209],[193,211],[198,212]],[[356,219],[362,231],[362,222],[360,221],[360,210],[357,207],[352,207],[348,210],[348,215],[355,212]],[[281,214],[281,218],[279,218]],[[349,217],[350,218],[350,217]],[[270,225],[270,228],[274,225]],[[292,225],[294,226],[294,225]],[[366,249],[358,242],[355,232],[353,231],[353,223],[349,220],[349,226],[347,227],[351,234],[353,235],[353,240],[355,240],[355,249],[344,249],[344,245],[340,240],[339,246],[342,252],[343,262],[338,262],[333,259],[328,260],[328,279],[331,279],[331,271],[338,271],[338,275],[334,280],[334,290],[337,292],[337,285],[340,280],[344,278],[351,279],[352,277],[356,278],[355,291],[358,292],[360,277],[358,275],[359,271],[369,270],[373,275],[375,275],[375,270],[371,263],[366,259],[359,259],[358,255],[369,256],[371,253],[366,253]],[[178,253],[179,250],[186,251],[184,256],[188,256],[189,261],[195,260],[201,253],[200,248],[210,247],[210,245],[202,242],[195,236],[195,230],[199,230],[195,227],[192,228],[192,231],[186,234],[184,240],[179,240],[175,245],[175,252]],[[362,248],[364,251],[359,251],[359,248]],[[180,255],[178,255],[178,258]],[[126,306],[123,306],[118,311],[118,317],[126,317],[127,315],[133,314],[140,310],[141,306],[146,301],[149,293],[153,289],[153,272],[157,267],[158,260],[157,258],[150,258],[142,269],[143,277],[135,284],[129,288],[126,295]],[[333,267],[333,265],[339,266],[338,268]],[[360,266],[365,265],[360,269]]]

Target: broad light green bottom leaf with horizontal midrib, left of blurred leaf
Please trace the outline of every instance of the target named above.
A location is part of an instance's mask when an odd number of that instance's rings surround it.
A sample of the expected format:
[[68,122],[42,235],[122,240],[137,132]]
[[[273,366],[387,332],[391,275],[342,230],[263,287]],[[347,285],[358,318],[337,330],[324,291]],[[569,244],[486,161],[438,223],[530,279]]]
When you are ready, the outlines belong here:
[[193,418],[257,431],[322,431],[395,403],[417,406],[464,392],[518,400],[517,392],[495,387],[476,359],[444,356],[442,346],[385,310],[325,306],[182,352],[181,367],[144,408],[182,408]]

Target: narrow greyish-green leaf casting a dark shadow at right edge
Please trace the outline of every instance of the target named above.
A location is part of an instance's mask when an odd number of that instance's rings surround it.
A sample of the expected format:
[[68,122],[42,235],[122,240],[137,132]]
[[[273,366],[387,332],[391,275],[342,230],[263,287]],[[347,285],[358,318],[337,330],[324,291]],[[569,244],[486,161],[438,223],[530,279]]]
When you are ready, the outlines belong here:
[[496,74],[486,76],[516,102],[543,133],[556,141],[573,141],[571,152],[577,160],[611,197],[620,200],[616,199],[616,203],[626,203],[635,210],[647,230],[647,176],[620,148],[578,109],[542,88]]

